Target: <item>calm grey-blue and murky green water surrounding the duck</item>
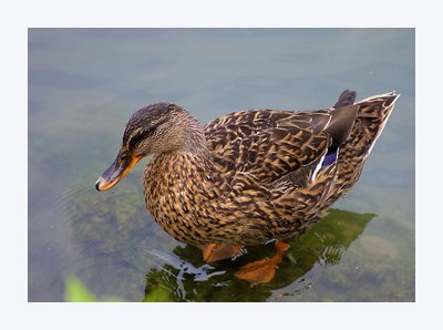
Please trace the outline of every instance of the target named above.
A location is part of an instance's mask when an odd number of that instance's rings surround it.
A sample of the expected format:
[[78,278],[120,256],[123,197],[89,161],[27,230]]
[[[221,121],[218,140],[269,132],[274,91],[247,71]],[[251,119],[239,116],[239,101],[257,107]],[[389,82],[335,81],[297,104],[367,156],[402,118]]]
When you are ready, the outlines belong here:
[[[94,189],[143,105],[175,102],[206,123],[326,107],[344,89],[401,97],[360,182],[268,285],[233,274],[272,246],[209,266],[154,224],[146,161],[113,190]],[[29,300],[63,301],[75,276],[127,301],[413,301],[414,97],[412,29],[31,29]]]

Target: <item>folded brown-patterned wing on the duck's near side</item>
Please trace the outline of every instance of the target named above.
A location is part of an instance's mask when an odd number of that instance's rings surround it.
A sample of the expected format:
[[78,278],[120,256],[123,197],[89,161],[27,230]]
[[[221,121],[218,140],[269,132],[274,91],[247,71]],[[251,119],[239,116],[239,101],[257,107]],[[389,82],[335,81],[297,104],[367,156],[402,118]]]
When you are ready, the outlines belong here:
[[240,111],[207,124],[205,135],[226,173],[248,173],[265,185],[288,175],[300,179],[297,173],[305,182],[328,151],[348,137],[357,110],[344,105],[313,112]]

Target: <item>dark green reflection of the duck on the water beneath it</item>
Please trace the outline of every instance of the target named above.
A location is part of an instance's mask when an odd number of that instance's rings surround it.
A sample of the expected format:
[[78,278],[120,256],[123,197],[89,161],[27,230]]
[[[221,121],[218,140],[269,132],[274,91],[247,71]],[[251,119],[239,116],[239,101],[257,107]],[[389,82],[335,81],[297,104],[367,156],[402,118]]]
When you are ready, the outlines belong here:
[[373,217],[331,209],[287,250],[272,281],[253,288],[234,274],[257,258],[271,256],[270,244],[247,247],[235,260],[212,265],[204,262],[198,248],[190,245],[177,246],[175,255],[146,250],[148,259],[154,257],[163,264],[147,274],[144,301],[266,301],[274,290],[290,285],[292,292],[306,290],[310,285],[307,274],[339,264]]

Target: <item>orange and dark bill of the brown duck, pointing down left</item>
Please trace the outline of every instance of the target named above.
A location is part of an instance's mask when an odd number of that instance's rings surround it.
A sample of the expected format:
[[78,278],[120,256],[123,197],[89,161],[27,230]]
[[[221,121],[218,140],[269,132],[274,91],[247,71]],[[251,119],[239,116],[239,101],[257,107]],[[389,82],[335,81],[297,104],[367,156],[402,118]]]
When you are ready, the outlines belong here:
[[99,192],[111,189],[137,164],[142,157],[135,156],[127,152],[119,152],[114,163],[107,168],[95,183],[95,188]]

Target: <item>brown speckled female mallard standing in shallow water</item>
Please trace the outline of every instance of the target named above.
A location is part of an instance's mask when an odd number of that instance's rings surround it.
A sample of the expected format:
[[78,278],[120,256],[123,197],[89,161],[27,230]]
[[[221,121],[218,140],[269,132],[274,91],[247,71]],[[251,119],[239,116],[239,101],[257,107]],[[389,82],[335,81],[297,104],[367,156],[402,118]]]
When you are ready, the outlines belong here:
[[171,103],[148,105],[126,124],[122,147],[95,187],[115,186],[144,156],[148,212],[207,261],[245,245],[277,240],[277,255],[244,266],[237,277],[269,281],[288,241],[317,221],[358,181],[399,97],[354,103],[344,91],[331,109],[251,110],[206,126]]

